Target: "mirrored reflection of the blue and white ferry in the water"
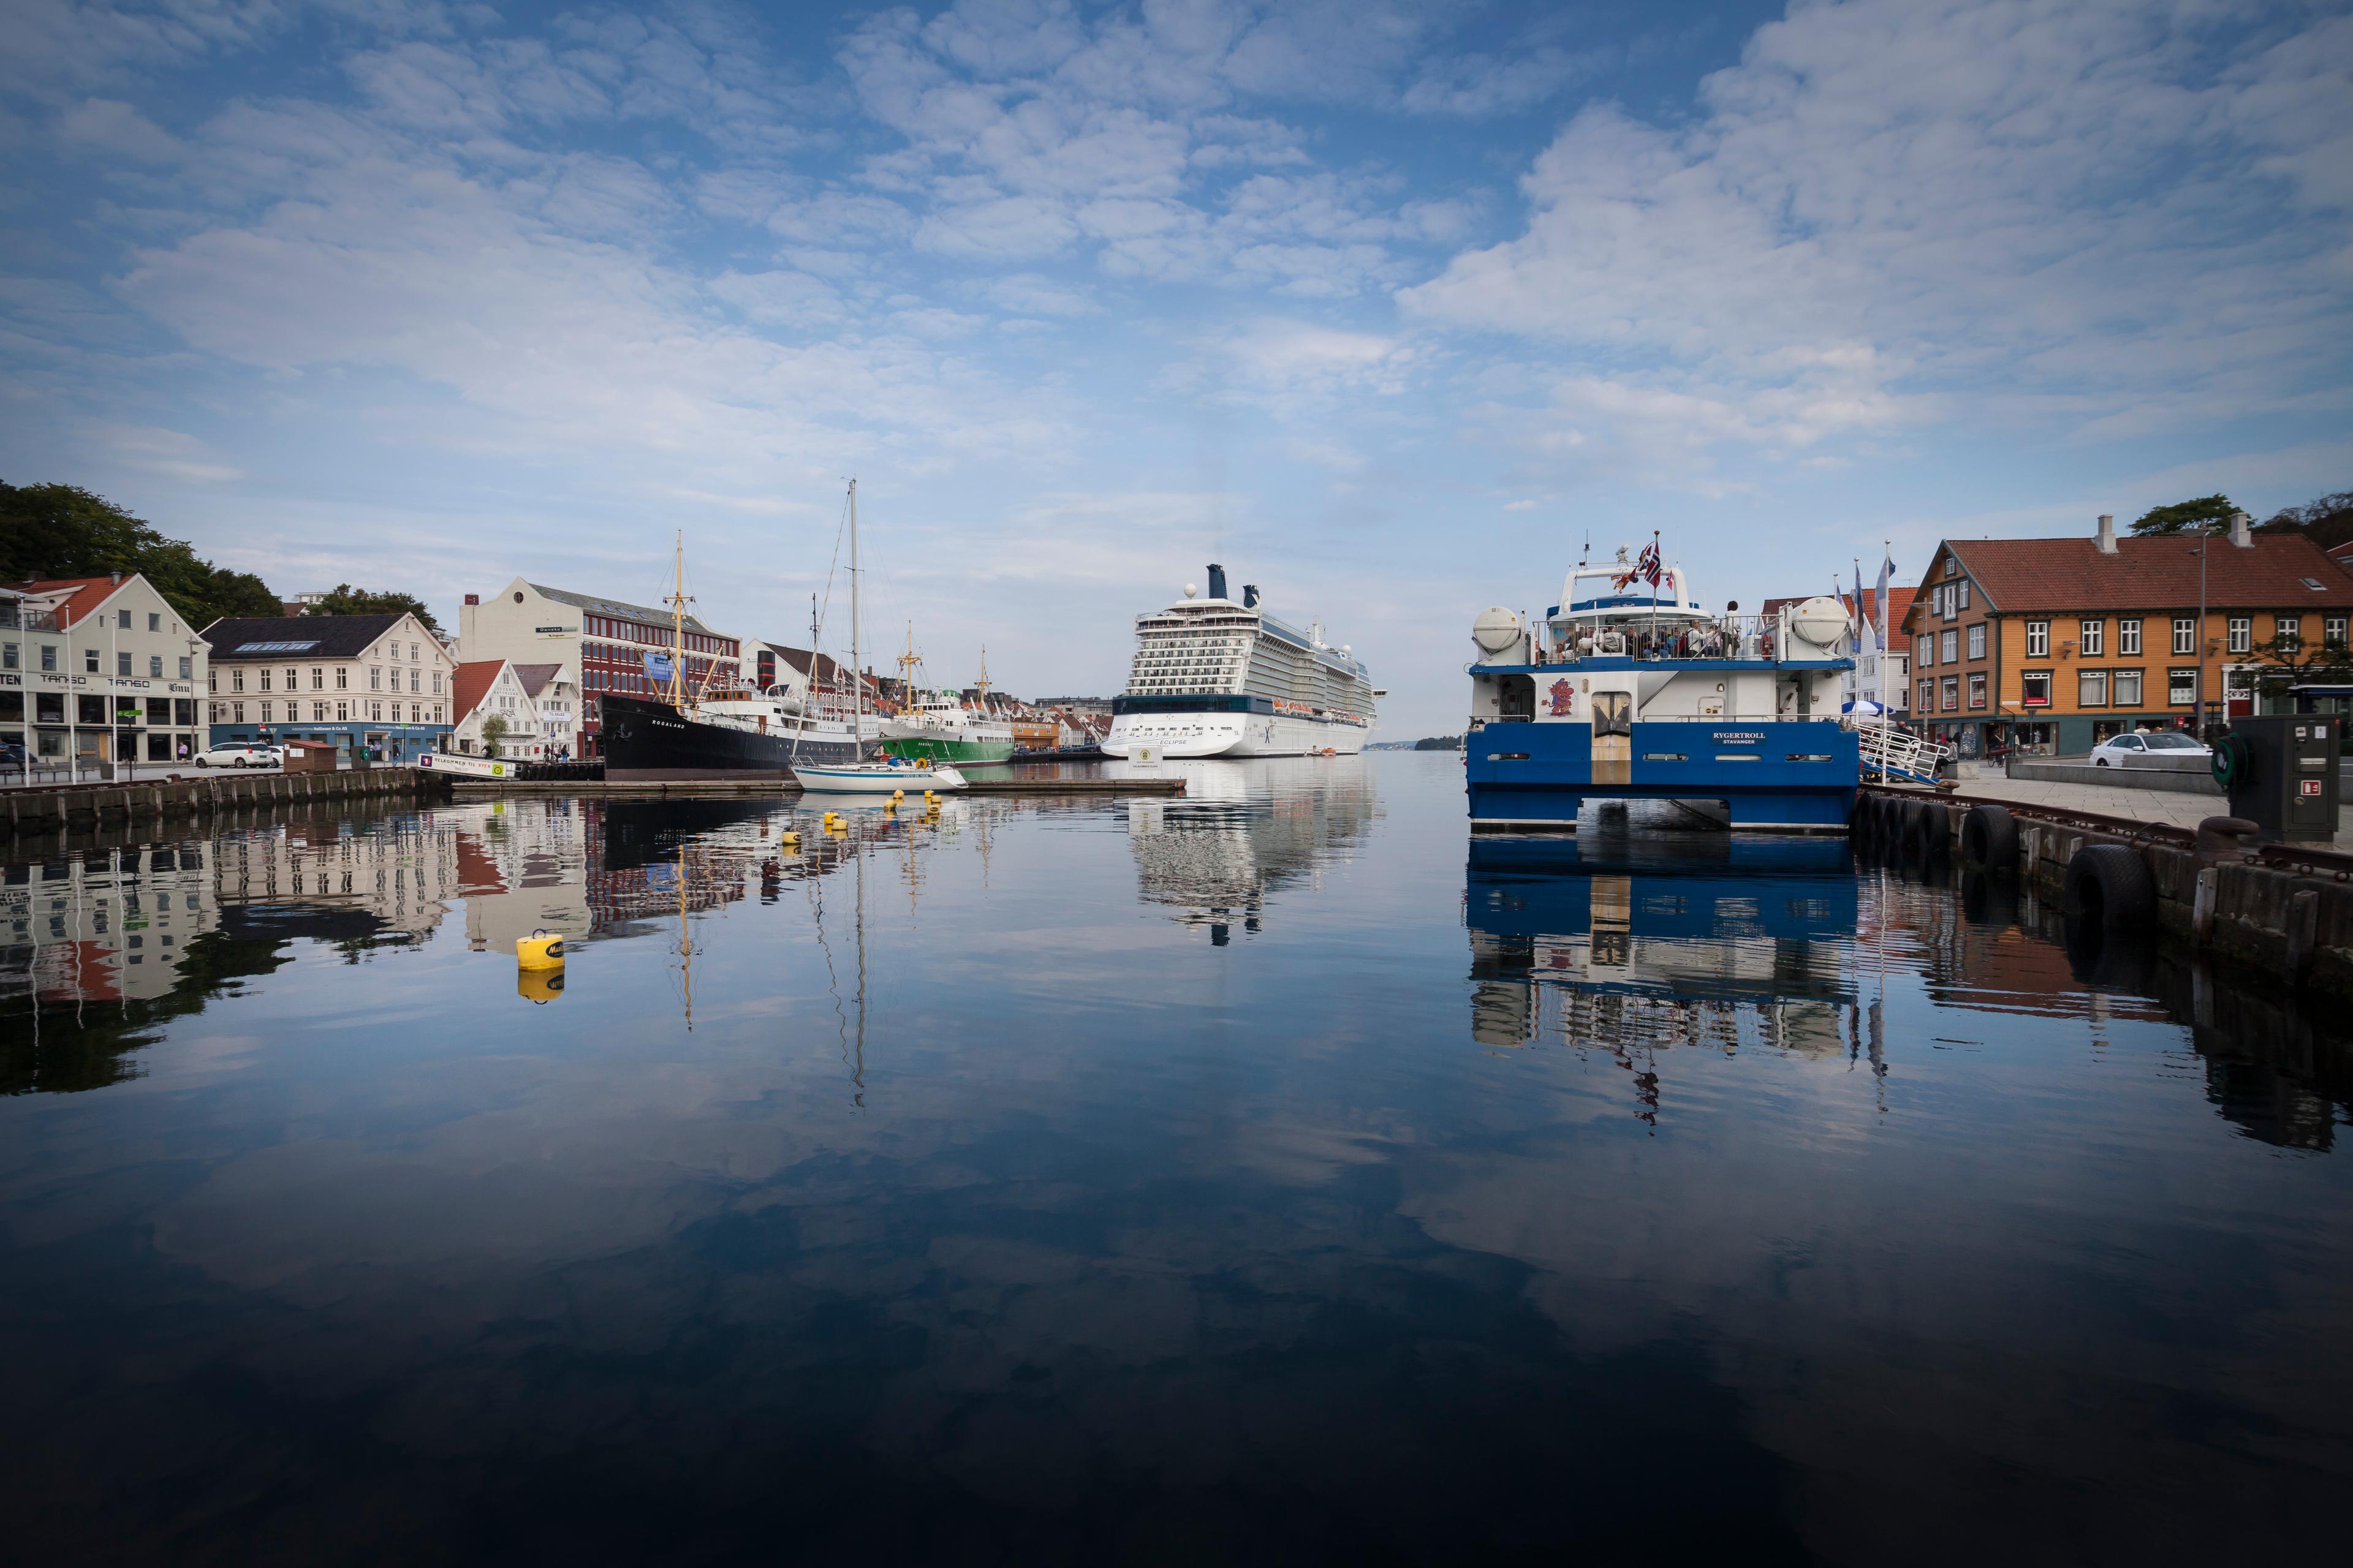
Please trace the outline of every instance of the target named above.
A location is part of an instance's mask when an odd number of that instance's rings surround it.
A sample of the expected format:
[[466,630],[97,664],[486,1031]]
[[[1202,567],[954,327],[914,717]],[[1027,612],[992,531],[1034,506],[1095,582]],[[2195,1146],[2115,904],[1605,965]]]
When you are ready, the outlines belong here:
[[1664,1051],[1838,1056],[1864,1023],[1840,839],[1473,837],[1464,917],[1473,1039],[1602,1051],[1649,1124]]

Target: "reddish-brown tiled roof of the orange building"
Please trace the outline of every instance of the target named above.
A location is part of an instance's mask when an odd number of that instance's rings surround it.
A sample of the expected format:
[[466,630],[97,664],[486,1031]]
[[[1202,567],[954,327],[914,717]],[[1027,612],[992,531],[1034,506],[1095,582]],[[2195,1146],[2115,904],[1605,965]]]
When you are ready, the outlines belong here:
[[[2304,534],[2254,534],[2249,545],[2217,534],[2205,543],[2214,550],[2205,578],[2209,609],[2353,607],[2353,576]],[[2195,609],[2198,545],[2195,534],[2122,536],[2115,555],[2101,555],[2089,536],[1948,538],[1939,555],[1951,550],[1986,607],[2002,614]],[[1927,595],[1918,604],[1927,604]]]

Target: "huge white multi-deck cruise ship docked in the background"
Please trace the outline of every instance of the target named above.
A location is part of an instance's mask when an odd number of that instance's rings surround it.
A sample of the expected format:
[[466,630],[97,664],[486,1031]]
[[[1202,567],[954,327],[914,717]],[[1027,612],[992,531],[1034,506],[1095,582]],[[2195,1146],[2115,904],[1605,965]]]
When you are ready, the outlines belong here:
[[1259,609],[1259,588],[1209,592],[1136,616],[1136,661],[1111,703],[1106,757],[1353,757],[1372,733],[1377,689],[1322,628],[1299,630]]

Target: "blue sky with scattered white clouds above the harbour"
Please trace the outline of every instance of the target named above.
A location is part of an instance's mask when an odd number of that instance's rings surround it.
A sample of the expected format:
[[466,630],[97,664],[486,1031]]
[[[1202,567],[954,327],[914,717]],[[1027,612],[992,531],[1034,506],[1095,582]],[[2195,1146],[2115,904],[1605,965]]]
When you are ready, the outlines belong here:
[[[2353,12],[0,0],[0,477],[294,595],[522,574],[1120,689],[2353,489]],[[885,665],[887,668],[887,665]]]

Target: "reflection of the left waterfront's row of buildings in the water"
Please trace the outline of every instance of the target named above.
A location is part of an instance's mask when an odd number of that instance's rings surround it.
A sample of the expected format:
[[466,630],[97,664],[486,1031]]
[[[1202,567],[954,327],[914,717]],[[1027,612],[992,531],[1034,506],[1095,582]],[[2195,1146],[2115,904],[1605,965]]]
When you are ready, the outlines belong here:
[[842,835],[795,823],[784,799],[492,799],[351,816],[247,813],[207,837],[82,835],[0,863],[0,1091],[99,1088],[134,1077],[125,1053],[169,1018],[285,964],[292,943],[344,961],[435,938],[464,910],[466,945],[513,954],[534,931],[572,943],[678,936],[744,898],[776,903],[861,846],[904,842],[922,882],[932,823],[854,816]]

